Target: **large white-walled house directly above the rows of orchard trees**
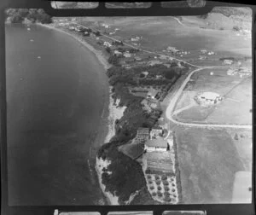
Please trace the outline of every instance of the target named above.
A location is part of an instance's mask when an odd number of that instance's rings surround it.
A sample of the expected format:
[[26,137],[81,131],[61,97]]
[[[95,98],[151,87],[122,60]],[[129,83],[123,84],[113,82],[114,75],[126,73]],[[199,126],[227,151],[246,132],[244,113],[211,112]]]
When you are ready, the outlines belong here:
[[147,152],[154,152],[154,151],[161,151],[161,152],[165,152],[167,150],[169,150],[169,144],[166,140],[164,140],[164,138],[160,137],[160,138],[156,138],[156,139],[148,139],[145,142],[145,150],[147,150]]

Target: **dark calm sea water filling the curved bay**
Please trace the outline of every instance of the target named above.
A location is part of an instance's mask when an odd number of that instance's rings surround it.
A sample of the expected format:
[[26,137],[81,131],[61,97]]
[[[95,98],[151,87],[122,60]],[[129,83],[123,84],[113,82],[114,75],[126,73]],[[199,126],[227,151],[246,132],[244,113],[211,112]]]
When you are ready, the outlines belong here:
[[30,28],[6,26],[9,205],[99,204],[88,160],[108,78],[75,39]]

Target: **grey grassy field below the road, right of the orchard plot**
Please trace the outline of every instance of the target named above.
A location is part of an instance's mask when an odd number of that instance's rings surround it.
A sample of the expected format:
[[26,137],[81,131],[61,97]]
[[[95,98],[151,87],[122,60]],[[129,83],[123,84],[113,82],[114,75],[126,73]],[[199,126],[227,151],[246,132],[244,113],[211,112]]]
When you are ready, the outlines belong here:
[[229,203],[235,173],[244,169],[232,137],[223,130],[177,128],[176,138],[183,202]]

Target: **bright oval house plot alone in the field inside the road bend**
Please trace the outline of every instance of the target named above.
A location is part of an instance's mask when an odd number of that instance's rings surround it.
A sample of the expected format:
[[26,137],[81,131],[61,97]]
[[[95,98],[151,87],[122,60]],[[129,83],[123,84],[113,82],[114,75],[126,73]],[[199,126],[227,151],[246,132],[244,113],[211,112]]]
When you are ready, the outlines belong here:
[[198,102],[201,106],[210,106],[218,104],[223,100],[223,96],[220,96],[215,92],[203,92],[199,96],[195,96],[195,101]]

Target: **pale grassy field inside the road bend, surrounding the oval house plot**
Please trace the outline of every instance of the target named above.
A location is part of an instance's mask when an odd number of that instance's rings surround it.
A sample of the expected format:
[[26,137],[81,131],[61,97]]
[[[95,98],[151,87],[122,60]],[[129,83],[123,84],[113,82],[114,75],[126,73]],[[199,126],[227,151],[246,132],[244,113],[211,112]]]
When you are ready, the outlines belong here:
[[183,91],[183,95],[177,102],[176,110],[189,105],[189,101],[192,104],[195,92],[216,92],[225,96],[224,101],[213,109],[201,106],[185,109],[177,114],[177,119],[186,122],[201,121],[212,124],[251,125],[252,78],[242,79],[237,76],[228,76],[226,71],[227,68],[206,69],[193,74]]

